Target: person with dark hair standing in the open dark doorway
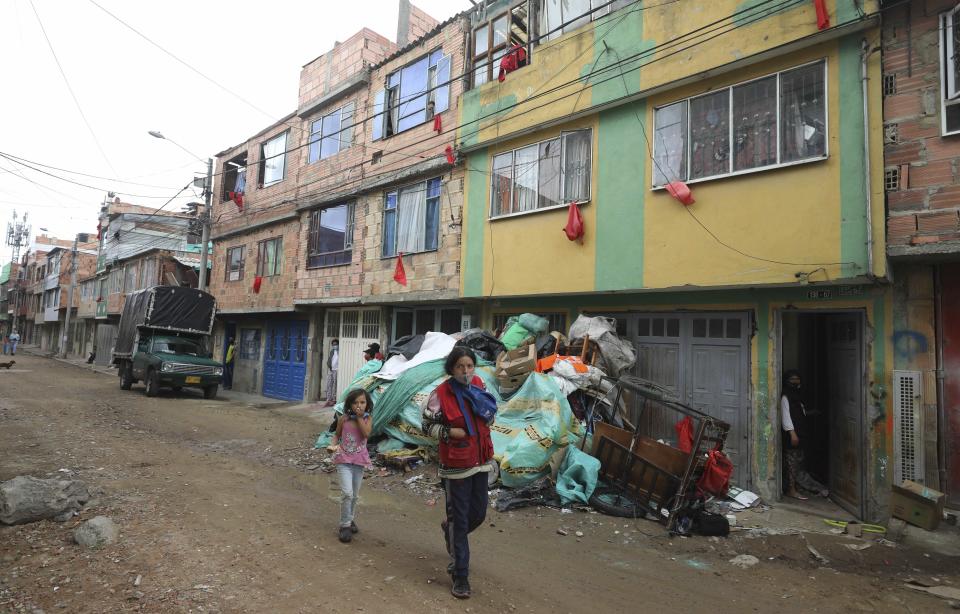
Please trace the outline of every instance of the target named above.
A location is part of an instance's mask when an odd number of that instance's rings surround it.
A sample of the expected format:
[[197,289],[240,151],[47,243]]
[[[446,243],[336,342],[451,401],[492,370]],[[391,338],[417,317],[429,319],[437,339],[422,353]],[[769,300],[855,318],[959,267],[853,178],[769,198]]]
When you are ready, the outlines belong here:
[[[807,431],[807,409],[800,394],[800,372],[791,369],[783,377],[780,397],[780,420],[783,427],[783,458],[787,467],[788,497],[805,501],[800,489],[822,497],[830,494],[827,488],[807,472],[803,457],[803,442]],[[799,487],[799,488],[798,488]]]

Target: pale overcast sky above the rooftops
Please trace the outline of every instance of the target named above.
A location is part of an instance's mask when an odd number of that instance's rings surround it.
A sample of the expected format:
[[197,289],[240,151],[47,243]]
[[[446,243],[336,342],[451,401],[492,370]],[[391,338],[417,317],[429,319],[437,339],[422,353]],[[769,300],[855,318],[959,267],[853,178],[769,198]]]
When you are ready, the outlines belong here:
[[[149,130],[206,159],[293,111],[301,66],[335,41],[362,27],[395,40],[397,29],[397,0],[93,1],[266,114],[91,0],[0,0],[0,153],[98,176],[38,166],[92,186],[81,187],[0,157],[0,232],[14,209],[29,212],[33,235],[41,227],[63,239],[94,231],[107,190],[159,207],[205,166]],[[440,20],[470,6],[468,0],[413,3]],[[185,194],[166,208],[201,199],[199,190]],[[9,257],[2,246],[0,262]]]

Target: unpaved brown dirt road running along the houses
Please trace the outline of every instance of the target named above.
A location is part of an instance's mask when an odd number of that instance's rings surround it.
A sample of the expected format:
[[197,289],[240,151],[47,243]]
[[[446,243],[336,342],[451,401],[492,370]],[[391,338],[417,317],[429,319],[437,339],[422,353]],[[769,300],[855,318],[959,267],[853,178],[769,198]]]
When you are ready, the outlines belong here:
[[[321,425],[302,412],[147,398],[29,355],[15,366],[0,371],[0,481],[71,477],[96,498],[65,523],[0,527],[0,612],[929,612],[948,603],[907,577],[960,586],[955,560],[830,535],[671,539],[645,520],[491,509],[460,602],[429,468],[417,488],[366,479],[361,532],[344,545],[312,449]],[[121,538],[84,550],[72,529],[96,515]],[[760,563],[735,568],[737,554]]]

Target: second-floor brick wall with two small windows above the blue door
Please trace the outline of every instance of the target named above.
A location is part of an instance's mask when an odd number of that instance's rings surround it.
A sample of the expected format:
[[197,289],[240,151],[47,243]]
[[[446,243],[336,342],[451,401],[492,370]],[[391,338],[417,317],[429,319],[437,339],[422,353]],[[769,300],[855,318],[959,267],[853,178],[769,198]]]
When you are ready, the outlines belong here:
[[[264,277],[260,284],[260,292],[254,293],[257,244],[259,241],[279,236],[283,237],[281,273],[273,277]],[[293,219],[215,242],[209,291],[217,297],[217,306],[221,310],[243,309],[255,312],[289,309],[292,311],[297,288],[297,269],[301,265],[302,249],[299,237],[300,220]],[[226,281],[224,272],[227,250],[239,245],[246,246],[243,278],[238,281]]]

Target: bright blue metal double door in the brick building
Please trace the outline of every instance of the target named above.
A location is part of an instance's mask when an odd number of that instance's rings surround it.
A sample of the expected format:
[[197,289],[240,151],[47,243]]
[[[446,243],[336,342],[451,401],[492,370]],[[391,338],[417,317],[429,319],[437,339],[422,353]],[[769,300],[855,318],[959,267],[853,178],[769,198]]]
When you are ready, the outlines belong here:
[[267,329],[263,355],[264,396],[287,401],[303,399],[307,375],[307,322],[281,322]]

